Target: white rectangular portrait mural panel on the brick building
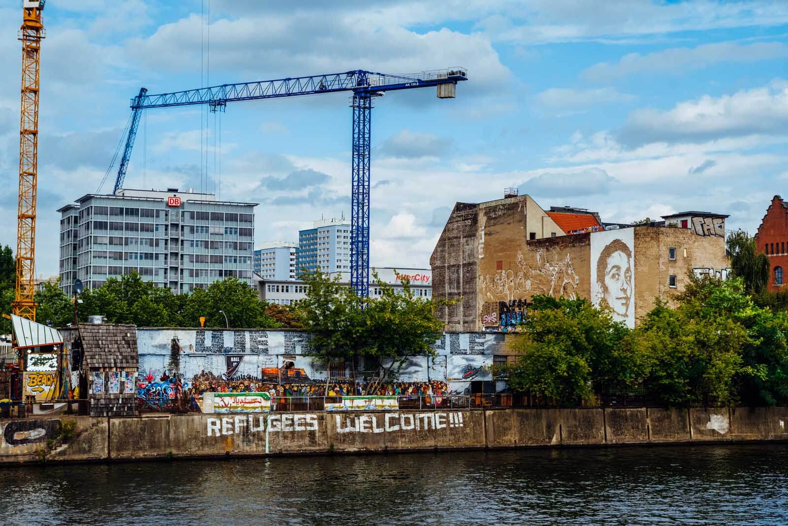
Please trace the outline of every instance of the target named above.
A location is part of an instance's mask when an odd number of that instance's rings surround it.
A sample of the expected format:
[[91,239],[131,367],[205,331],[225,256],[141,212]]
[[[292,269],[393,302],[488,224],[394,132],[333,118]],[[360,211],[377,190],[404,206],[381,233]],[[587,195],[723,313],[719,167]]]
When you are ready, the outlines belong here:
[[615,321],[635,326],[634,229],[591,234],[591,298]]

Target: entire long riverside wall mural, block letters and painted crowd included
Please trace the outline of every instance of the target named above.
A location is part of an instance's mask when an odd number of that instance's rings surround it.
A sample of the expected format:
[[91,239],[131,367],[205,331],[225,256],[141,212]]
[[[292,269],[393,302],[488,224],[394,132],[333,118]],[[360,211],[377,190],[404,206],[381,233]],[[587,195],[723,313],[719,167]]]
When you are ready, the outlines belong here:
[[329,369],[314,363],[303,331],[143,328],[137,341],[139,408],[151,411],[201,411],[206,393],[265,393],[274,403],[412,397],[440,406],[444,397],[469,394],[471,382],[491,382],[492,355],[504,352],[503,334],[443,334],[433,345],[436,356],[412,356],[394,367],[392,378],[381,379],[363,360],[360,367]]

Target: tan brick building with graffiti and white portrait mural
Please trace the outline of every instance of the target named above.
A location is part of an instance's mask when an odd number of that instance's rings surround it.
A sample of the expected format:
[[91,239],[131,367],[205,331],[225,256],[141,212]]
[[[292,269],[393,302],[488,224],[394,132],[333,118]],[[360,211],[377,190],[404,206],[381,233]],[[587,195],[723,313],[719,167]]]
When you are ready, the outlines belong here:
[[433,297],[454,300],[440,311],[444,328],[511,330],[537,294],[588,298],[634,326],[656,297],[671,300],[690,270],[727,274],[726,216],[687,214],[691,223],[718,220],[712,229],[613,226],[564,235],[530,196],[456,203],[430,257]]

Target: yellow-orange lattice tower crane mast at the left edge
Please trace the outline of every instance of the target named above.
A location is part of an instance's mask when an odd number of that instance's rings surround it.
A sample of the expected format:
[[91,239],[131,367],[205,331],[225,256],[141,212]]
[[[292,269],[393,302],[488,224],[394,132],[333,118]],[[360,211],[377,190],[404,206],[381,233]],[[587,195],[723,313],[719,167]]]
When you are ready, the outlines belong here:
[[17,212],[17,286],[11,311],[35,321],[35,196],[39,159],[39,64],[45,36],[45,0],[23,0],[22,106],[19,126],[19,207]]

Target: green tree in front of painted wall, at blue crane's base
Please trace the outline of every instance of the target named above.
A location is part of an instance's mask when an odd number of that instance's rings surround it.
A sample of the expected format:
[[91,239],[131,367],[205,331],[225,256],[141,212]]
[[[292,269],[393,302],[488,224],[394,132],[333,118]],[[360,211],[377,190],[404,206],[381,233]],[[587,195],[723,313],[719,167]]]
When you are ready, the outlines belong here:
[[323,363],[355,364],[362,356],[370,360],[379,374],[366,385],[367,392],[396,377],[409,357],[434,356],[432,345],[443,324],[435,317],[433,301],[414,296],[407,279],[397,293],[374,274],[381,296],[362,299],[338,276],[330,279],[318,270],[302,278],[307,297],[296,310],[312,335],[313,356]]

